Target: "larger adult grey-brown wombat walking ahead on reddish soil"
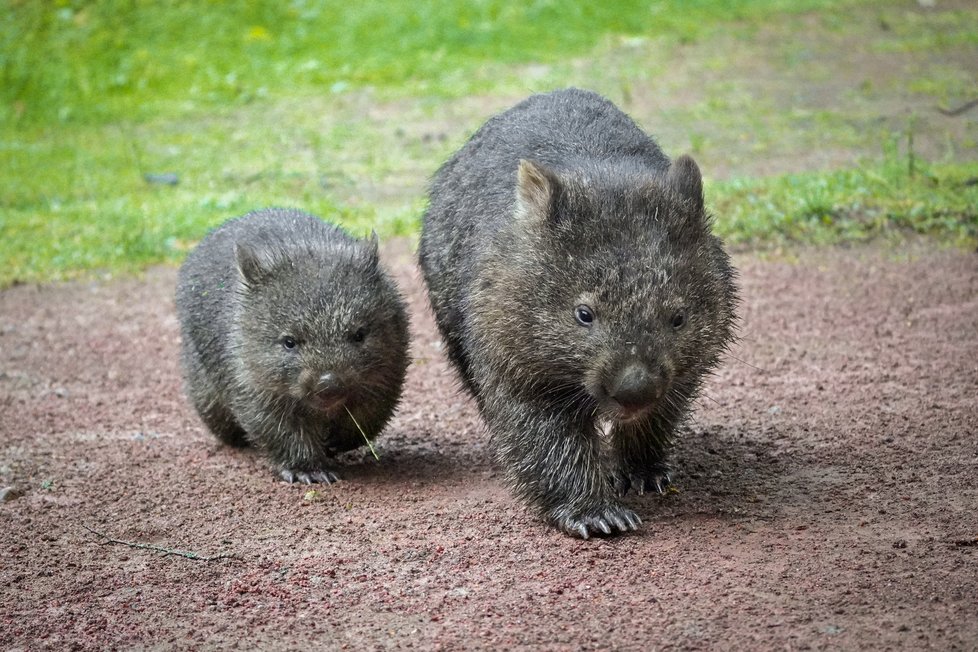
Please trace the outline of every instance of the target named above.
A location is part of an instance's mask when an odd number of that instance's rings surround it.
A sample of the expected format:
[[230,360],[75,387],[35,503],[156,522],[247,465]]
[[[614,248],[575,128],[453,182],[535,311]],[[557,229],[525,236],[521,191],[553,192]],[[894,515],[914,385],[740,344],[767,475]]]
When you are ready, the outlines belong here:
[[438,171],[419,254],[516,493],[573,535],[636,529],[617,495],[668,484],[734,322],[693,159],[594,93],[530,97]]

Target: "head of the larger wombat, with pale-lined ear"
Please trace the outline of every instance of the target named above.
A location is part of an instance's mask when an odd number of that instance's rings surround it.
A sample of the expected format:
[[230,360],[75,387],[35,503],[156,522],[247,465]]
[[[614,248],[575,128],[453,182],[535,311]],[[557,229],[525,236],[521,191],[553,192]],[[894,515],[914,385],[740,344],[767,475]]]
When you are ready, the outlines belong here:
[[497,361],[602,418],[681,412],[730,341],[736,304],[696,163],[650,176],[524,160],[516,176],[515,220],[476,299]]

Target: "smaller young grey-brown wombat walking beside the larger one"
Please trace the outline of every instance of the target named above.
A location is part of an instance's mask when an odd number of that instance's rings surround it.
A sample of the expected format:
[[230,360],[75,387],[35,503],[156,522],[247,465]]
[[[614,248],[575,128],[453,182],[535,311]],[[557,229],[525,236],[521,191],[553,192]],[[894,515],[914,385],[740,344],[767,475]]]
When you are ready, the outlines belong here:
[[330,456],[366,444],[397,405],[408,323],[376,237],[255,211],[190,253],[176,301],[201,419],[228,444],[260,448],[289,482],[335,481]]

